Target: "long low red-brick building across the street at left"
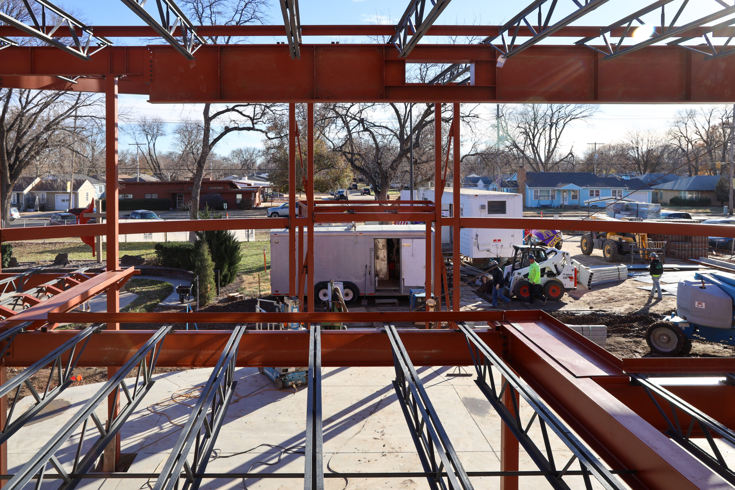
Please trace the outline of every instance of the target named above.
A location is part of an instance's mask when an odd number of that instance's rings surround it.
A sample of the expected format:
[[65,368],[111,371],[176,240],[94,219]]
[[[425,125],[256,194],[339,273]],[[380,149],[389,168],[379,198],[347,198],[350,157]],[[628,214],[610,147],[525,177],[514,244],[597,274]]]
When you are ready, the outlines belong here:
[[[259,206],[262,190],[265,187],[240,187],[231,180],[201,181],[200,208],[207,203],[207,195],[221,198],[228,209],[239,209],[240,201],[251,201],[252,206]],[[171,209],[182,209],[191,201],[193,181],[121,181],[120,199],[169,199]],[[145,208],[145,206],[143,206]]]

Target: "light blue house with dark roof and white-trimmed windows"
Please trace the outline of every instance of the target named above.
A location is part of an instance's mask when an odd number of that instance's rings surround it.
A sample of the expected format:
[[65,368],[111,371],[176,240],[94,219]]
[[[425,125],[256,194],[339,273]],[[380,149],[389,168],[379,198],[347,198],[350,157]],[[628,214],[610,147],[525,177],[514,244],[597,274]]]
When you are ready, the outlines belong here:
[[[513,179],[514,177],[514,179]],[[637,190],[617,176],[591,172],[526,172],[518,170],[511,180],[525,196],[526,207],[577,207],[599,198],[629,198],[650,203],[651,190]],[[592,204],[594,206],[595,204]]]

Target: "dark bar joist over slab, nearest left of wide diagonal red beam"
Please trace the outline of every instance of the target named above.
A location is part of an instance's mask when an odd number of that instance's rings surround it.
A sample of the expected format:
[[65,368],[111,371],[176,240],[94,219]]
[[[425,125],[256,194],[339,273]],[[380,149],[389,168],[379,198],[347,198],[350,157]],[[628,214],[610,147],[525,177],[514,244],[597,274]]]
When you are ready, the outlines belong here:
[[[584,485],[586,489],[592,489],[592,480],[589,475],[594,476],[605,489],[625,489],[620,480],[614,477],[609,469],[593,455],[577,437],[567,428],[564,423],[556,417],[548,406],[539,398],[539,396],[526,383],[515,374],[515,372],[501,359],[498,354],[492,351],[485,342],[468,327],[465,323],[458,323],[460,331],[467,336],[467,346],[470,347],[470,354],[477,372],[475,383],[481,392],[487,397],[487,400],[498,412],[506,426],[512,431],[513,435],[526,450],[528,456],[534,461],[538,468],[547,474],[546,480],[554,489],[569,489],[567,482],[564,481],[564,475],[572,467],[576,461],[580,466],[584,476]],[[498,370],[503,376],[503,381],[498,383],[492,368]],[[490,383],[488,383],[490,381]],[[513,400],[512,410],[503,404],[503,393],[510,392]],[[517,395],[526,400],[528,406],[534,410],[534,414],[523,422],[520,414],[520,406],[518,404]],[[539,428],[543,438],[543,447],[538,447],[536,442],[531,439],[528,431],[533,427],[534,422],[539,424]],[[564,463],[563,466],[557,465],[553,458],[551,450],[551,441],[549,439],[548,428],[566,444],[572,452],[572,457]],[[588,473],[589,472],[589,473]]]

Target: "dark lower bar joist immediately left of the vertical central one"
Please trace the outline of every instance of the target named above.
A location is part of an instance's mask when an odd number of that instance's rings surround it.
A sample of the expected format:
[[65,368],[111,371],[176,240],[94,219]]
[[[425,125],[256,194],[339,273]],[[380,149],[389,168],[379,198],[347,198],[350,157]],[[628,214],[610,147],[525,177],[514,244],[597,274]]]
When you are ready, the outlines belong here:
[[[209,458],[237,386],[237,381],[234,380],[235,361],[237,348],[244,333],[243,325],[238,325],[232,331],[153,490],[178,490],[182,472],[186,475],[184,482],[181,483],[182,490],[199,488],[201,477],[196,475],[207,471]],[[189,464],[187,456],[192,447],[194,447],[193,463]]]

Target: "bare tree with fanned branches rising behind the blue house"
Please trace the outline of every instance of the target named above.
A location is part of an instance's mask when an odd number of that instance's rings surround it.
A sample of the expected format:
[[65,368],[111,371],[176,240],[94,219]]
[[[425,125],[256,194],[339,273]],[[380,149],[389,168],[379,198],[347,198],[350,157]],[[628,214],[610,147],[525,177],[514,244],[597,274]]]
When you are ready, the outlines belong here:
[[537,172],[573,162],[573,148],[562,151],[562,136],[574,121],[588,120],[600,109],[592,104],[520,104],[503,107],[501,130],[515,159]]

